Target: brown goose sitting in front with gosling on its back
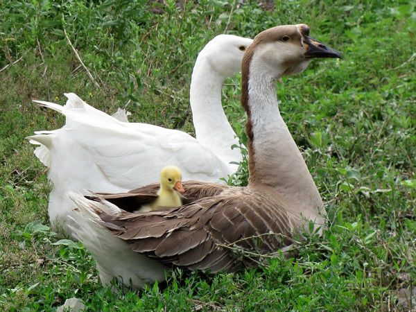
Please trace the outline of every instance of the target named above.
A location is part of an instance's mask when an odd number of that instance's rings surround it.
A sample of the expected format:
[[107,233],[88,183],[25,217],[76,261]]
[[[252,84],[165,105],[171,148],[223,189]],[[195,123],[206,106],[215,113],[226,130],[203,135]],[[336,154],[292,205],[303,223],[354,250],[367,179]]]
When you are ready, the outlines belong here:
[[89,198],[70,194],[80,212],[76,221],[87,226],[87,215],[96,231],[94,237],[83,231],[79,239],[96,258],[104,283],[112,270],[137,287],[164,279],[163,270],[172,266],[234,272],[253,262],[227,246],[270,254],[291,245],[291,236],[307,230],[310,221],[324,224],[320,194],[281,118],[275,89],[276,80],[304,71],[312,58],[340,53],[309,37],[305,24],[263,31],[245,52],[241,102],[250,139],[248,187],[184,182],[186,205],[149,213],[128,211],[152,198],[159,184]]

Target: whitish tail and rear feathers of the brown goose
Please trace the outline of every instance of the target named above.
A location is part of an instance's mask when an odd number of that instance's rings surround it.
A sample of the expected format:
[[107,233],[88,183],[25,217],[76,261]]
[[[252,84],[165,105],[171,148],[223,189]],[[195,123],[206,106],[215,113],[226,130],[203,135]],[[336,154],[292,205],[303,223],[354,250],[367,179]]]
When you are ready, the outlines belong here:
[[[114,213],[112,204],[95,200],[87,200],[80,193],[68,193],[77,208],[71,211],[69,218],[73,221],[69,224],[73,236],[81,241],[92,253],[97,263],[101,282],[110,284],[116,277],[125,286],[141,288],[144,284],[164,280],[164,270],[161,263],[149,259],[144,254],[134,252],[128,243],[119,239],[103,226],[103,221],[98,214],[108,211]],[[95,198],[101,200],[100,198]]]

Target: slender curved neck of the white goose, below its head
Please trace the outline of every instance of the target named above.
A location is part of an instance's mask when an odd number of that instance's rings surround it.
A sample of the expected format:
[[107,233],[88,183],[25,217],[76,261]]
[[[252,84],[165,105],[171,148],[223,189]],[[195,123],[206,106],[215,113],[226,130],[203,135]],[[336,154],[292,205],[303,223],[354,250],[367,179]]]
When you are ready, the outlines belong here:
[[[239,148],[231,148],[232,145],[239,144],[239,139],[229,125],[221,105],[221,86],[224,80],[224,76],[211,69],[209,60],[198,56],[193,67],[190,95],[196,139],[229,164],[241,162],[242,157]],[[238,165],[229,164],[229,167],[232,173]]]

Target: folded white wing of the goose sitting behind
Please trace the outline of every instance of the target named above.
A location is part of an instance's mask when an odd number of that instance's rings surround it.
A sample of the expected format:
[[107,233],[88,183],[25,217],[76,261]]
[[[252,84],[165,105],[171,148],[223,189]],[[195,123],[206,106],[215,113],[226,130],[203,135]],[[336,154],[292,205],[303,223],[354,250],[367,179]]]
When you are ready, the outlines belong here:
[[[69,100],[73,101],[75,96],[69,94]],[[82,101],[78,96],[75,99],[76,103]],[[185,132],[144,123],[123,123],[86,103],[65,107],[39,103],[67,117],[60,132],[85,149],[117,187],[133,189],[156,182],[161,168],[168,164],[181,168],[184,180],[218,181],[232,173],[227,164]]]

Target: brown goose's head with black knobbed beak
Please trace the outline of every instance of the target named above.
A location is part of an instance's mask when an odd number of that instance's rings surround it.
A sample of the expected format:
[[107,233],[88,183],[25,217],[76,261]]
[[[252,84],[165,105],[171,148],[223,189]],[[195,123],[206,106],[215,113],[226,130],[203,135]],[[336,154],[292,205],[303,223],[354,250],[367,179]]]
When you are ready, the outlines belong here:
[[269,28],[254,37],[243,59],[243,67],[256,67],[268,78],[300,73],[313,58],[341,58],[340,52],[309,37],[306,24]]

